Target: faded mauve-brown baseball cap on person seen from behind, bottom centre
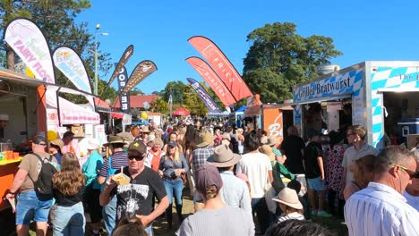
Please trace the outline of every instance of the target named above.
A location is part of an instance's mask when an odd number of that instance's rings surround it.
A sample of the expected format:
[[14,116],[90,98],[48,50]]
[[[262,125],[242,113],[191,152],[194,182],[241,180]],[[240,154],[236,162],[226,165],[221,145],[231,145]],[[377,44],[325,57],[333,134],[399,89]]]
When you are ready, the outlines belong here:
[[216,186],[217,190],[223,187],[223,180],[219,175],[218,169],[215,166],[205,164],[202,165],[195,173],[196,189],[201,193],[206,193],[209,186]]

